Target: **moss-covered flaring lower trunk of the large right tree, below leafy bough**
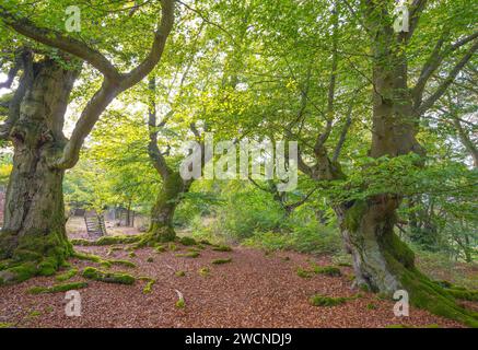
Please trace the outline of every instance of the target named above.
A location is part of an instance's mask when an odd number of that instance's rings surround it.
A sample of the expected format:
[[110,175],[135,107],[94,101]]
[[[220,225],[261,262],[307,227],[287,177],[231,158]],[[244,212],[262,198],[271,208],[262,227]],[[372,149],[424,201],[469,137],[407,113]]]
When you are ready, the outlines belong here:
[[352,255],[354,283],[392,296],[409,293],[412,305],[478,327],[478,315],[460,307],[453,295],[422,275],[413,252],[394,233],[399,200],[376,196],[337,209],[347,250]]

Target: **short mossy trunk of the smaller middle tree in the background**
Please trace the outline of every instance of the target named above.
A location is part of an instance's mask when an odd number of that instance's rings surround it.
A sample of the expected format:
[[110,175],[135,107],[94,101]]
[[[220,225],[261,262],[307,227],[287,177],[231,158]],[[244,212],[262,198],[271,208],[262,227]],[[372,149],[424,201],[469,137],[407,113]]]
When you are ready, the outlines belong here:
[[173,225],[174,212],[188,187],[179,173],[170,173],[163,178],[163,185],[151,209],[151,224],[147,234],[150,241],[174,241],[176,237]]

